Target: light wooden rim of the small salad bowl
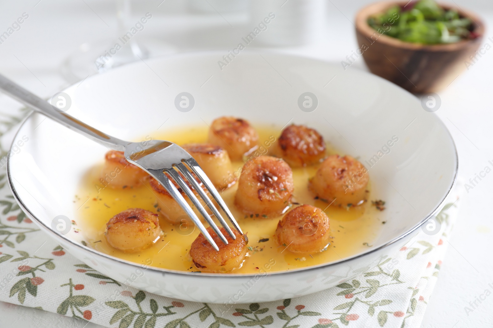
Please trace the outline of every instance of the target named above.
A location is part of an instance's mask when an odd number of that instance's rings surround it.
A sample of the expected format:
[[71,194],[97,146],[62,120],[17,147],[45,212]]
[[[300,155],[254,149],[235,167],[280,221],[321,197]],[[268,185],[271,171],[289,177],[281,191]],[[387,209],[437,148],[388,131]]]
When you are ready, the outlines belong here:
[[373,39],[371,38],[375,34],[379,35],[375,41],[371,42],[368,47],[371,47],[371,45],[375,42],[380,42],[383,43],[387,46],[391,46],[394,48],[401,48],[401,49],[407,49],[407,50],[425,50],[425,51],[440,51],[440,52],[454,52],[461,50],[467,46],[469,46],[471,43],[476,43],[480,42],[481,39],[483,38],[485,34],[485,24],[483,23],[483,20],[477,16],[475,13],[469,10],[464,10],[458,5],[453,5],[449,3],[438,3],[442,8],[445,9],[456,9],[458,13],[461,16],[464,17],[469,17],[472,21],[473,24],[475,25],[474,31],[479,34],[478,37],[475,39],[470,39],[470,40],[460,40],[458,42],[454,43],[439,43],[439,44],[423,44],[423,43],[413,43],[413,42],[406,42],[402,41],[400,39],[388,36],[386,34],[380,34],[377,30],[374,30],[370,25],[368,25],[368,17],[371,15],[374,15],[376,13],[382,12],[389,7],[393,5],[401,5],[405,6],[409,2],[406,1],[395,1],[395,0],[390,0],[390,1],[378,1],[371,3],[363,8],[361,8],[357,13],[355,17],[355,29],[356,32],[359,32],[363,34],[363,36],[368,39],[368,41]]

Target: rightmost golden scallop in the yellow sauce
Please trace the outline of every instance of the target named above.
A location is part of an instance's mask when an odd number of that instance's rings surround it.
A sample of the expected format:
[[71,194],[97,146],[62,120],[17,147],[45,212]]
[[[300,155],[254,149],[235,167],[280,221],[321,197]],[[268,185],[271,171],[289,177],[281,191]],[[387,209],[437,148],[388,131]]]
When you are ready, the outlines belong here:
[[349,155],[331,155],[322,162],[309,188],[328,203],[356,206],[366,200],[368,180],[368,171],[359,161]]

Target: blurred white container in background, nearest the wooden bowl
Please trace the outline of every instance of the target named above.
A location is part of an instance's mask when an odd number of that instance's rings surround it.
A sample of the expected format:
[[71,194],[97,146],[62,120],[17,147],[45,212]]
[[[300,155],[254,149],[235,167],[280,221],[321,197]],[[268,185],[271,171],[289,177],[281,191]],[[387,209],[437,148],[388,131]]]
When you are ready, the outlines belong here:
[[295,46],[309,43],[323,25],[324,0],[251,0],[251,23],[257,25],[270,12],[276,18],[255,39],[264,46]]

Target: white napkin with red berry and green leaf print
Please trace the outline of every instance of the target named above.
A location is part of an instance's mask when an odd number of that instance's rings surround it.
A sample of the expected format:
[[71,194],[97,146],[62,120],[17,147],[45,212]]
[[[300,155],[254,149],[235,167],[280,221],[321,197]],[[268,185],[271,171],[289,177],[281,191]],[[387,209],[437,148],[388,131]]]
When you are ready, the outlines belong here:
[[420,231],[357,278],[299,298],[231,308],[149,294],[83,264],[26,217],[6,184],[5,165],[0,170],[0,300],[119,328],[420,327],[463,190],[458,183],[437,214],[438,233]]

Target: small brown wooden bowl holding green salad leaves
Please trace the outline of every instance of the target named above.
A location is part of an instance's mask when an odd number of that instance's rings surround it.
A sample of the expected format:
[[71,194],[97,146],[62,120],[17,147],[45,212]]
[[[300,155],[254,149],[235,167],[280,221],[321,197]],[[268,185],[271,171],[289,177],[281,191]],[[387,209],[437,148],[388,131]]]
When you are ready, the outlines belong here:
[[[372,73],[412,93],[445,89],[465,70],[466,61],[472,63],[470,56],[475,55],[485,31],[483,22],[471,12],[440,4],[445,9],[455,8],[461,17],[469,17],[478,37],[436,45],[404,42],[380,34],[367,23],[369,16],[383,13],[396,4],[404,6],[406,2],[376,2],[357,13],[356,37],[360,49],[358,54],[362,53]],[[479,56],[477,59],[480,59]]]

